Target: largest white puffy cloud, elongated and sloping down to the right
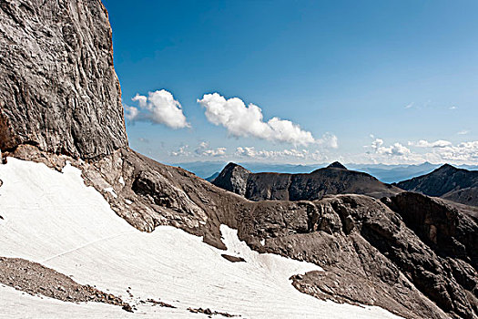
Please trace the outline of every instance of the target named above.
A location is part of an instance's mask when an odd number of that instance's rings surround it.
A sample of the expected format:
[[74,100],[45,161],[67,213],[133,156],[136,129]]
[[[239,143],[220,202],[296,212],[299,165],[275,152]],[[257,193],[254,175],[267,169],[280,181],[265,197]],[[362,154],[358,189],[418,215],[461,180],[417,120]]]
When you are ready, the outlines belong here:
[[255,137],[293,145],[308,145],[316,140],[309,131],[287,119],[270,118],[264,122],[262,110],[246,104],[240,98],[226,99],[218,93],[205,94],[198,103],[206,108],[208,121],[228,129],[235,137]]

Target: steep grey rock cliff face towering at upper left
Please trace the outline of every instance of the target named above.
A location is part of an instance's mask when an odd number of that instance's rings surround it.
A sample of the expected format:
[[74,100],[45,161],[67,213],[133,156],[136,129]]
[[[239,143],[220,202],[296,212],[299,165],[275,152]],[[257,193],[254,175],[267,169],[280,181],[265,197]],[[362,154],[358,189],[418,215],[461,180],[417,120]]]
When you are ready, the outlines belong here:
[[92,159],[127,146],[99,0],[3,0],[0,21],[0,149]]

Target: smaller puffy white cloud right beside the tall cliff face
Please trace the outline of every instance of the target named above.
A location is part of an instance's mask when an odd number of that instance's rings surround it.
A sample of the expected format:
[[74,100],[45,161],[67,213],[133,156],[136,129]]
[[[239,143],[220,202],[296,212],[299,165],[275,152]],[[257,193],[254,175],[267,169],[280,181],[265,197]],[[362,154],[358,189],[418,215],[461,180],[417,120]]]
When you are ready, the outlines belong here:
[[130,121],[147,120],[171,129],[190,128],[181,104],[167,90],[149,92],[147,97],[137,94],[132,100],[139,108],[125,106],[125,117]]

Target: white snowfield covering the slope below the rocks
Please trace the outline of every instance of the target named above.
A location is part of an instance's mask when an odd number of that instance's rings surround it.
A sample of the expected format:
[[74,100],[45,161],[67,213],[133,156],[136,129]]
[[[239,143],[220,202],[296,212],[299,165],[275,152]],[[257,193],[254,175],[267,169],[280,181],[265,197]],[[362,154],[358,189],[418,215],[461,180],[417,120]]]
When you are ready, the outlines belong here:
[[[0,256],[41,262],[78,283],[122,295],[132,304],[153,298],[178,309],[137,305],[129,314],[107,304],[72,304],[0,285],[0,314],[12,318],[206,317],[188,307],[244,318],[397,318],[379,307],[320,301],[300,293],[290,275],[320,267],[250,251],[221,226],[228,252],[173,227],[139,232],[110,209],[79,170],[9,159],[0,165]],[[229,262],[221,253],[247,262]],[[127,296],[131,287],[134,297]],[[220,316],[215,316],[220,318]]]

